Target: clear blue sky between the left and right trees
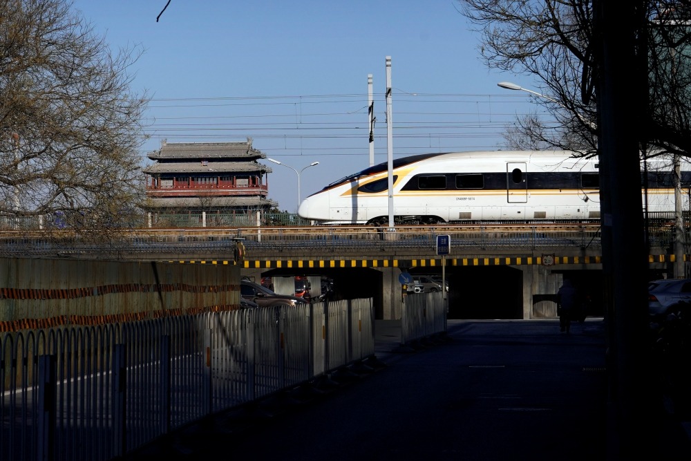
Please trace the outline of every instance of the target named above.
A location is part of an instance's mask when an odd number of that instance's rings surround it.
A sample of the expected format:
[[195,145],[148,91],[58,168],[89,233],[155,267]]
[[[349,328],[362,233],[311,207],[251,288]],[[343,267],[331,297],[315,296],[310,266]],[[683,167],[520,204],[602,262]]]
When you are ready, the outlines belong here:
[[[538,111],[526,79],[488,70],[454,0],[76,0],[112,50],[140,46],[133,91],[153,98],[141,153],[168,142],[253,145],[300,174],[300,195],[386,162],[386,57],[395,158],[495,150],[516,113]],[[535,88],[533,88],[535,89]],[[312,162],[315,167],[307,167]],[[295,211],[296,171],[266,161],[269,198]]]

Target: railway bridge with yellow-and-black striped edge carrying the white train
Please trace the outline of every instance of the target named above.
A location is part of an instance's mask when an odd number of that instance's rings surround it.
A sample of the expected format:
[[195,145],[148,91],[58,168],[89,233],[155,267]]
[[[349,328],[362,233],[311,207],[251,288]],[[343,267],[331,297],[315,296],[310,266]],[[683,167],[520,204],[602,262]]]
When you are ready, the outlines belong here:
[[[674,232],[659,225],[647,234],[651,276],[663,277]],[[448,254],[438,254],[438,236],[448,236]],[[371,297],[377,319],[401,318],[415,296],[401,285],[404,272],[444,276],[451,319],[556,317],[555,294],[569,277],[591,295],[589,314],[603,314],[600,228],[588,223],[130,229],[108,245],[4,234],[0,256],[150,261],[183,273],[185,265],[230,265],[250,280],[272,277],[277,291],[292,286],[279,281],[305,276],[312,296],[328,278],[337,297]]]

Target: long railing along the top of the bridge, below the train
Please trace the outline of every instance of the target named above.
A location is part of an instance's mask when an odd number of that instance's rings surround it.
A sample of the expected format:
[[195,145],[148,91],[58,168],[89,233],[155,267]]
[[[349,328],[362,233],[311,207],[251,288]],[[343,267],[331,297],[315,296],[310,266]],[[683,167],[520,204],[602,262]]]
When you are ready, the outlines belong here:
[[[319,250],[347,252],[417,249],[434,251],[437,235],[451,236],[452,249],[600,247],[596,225],[554,227],[238,227],[235,229],[132,229],[108,235],[101,243],[74,234],[0,232],[0,256],[55,256],[69,253],[231,252],[235,241],[248,251]],[[651,229],[650,241],[669,245],[668,227]]]

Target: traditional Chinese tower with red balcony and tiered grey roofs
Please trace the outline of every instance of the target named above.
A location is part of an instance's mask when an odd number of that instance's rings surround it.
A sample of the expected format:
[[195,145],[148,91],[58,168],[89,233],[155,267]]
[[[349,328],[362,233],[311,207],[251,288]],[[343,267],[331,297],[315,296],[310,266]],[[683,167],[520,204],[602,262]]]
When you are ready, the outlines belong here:
[[[166,142],[148,155],[149,225],[251,225],[269,200],[266,154],[247,142]],[[247,222],[245,222],[247,221]]]

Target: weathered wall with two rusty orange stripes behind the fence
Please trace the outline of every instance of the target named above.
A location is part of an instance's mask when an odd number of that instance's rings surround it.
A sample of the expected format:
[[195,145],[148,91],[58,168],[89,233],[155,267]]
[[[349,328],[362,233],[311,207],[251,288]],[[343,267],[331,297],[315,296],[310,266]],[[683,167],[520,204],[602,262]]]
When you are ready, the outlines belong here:
[[0,329],[239,308],[236,265],[0,258]]

